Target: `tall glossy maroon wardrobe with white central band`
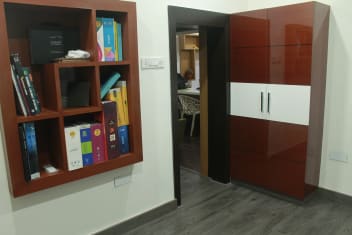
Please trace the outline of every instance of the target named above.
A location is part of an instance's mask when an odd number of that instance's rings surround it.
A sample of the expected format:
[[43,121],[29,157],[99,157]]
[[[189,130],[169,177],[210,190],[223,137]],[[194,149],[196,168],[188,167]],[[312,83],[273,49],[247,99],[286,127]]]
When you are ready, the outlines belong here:
[[304,199],[319,183],[329,6],[230,19],[231,178]]

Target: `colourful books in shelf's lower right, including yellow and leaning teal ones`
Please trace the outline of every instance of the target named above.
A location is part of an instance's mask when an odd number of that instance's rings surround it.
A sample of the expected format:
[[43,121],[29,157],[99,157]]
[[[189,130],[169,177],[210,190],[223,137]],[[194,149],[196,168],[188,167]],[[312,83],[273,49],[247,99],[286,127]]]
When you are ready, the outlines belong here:
[[101,85],[103,111],[95,122],[65,127],[68,170],[114,159],[130,151],[127,84],[118,81],[120,77],[115,72]]

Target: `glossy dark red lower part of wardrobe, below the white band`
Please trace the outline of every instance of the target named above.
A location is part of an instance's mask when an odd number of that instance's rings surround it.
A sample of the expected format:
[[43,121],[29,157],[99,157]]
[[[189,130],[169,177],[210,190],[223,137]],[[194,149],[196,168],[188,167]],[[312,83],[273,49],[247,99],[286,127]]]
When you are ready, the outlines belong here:
[[231,178],[304,198],[308,127],[230,117]]

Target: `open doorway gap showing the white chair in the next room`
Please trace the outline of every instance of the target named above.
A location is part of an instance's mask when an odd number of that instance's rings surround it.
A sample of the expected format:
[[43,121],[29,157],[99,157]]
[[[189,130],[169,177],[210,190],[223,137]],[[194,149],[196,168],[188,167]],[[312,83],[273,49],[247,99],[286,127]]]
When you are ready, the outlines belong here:
[[[205,92],[205,74],[200,74],[198,27],[176,28],[177,55],[177,101],[179,117],[176,126],[180,165],[193,173],[208,175],[208,156],[202,151],[207,149],[204,140],[208,137],[200,131],[200,122],[207,121],[207,115],[201,112],[201,105],[207,106],[206,100],[201,100]],[[202,60],[204,61],[204,59]],[[203,63],[204,64],[204,63]],[[202,75],[202,76],[201,76]],[[200,78],[202,77],[202,83]],[[202,85],[202,86],[201,86]],[[202,135],[201,135],[202,134]],[[200,141],[202,139],[202,144]]]

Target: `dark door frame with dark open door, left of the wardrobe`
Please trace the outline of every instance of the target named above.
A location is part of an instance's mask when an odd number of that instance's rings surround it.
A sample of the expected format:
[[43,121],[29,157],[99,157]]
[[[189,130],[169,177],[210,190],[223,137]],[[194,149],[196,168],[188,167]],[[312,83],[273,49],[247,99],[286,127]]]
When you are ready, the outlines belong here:
[[[229,138],[228,138],[228,25],[229,17],[226,14],[209,11],[194,10],[182,7],[168,7],[169,13],[169,40],[170,40],[170,77],[171,77],[171,105],[173,131],[173,164],[174,164],[174,191],[178,205],[181,204],[180,185],[180,155],[177,141],[177,120],[179,116],[177,103],[177,55],[176,32],[182,27],[195,27],[199,30],[200,58],[207,58],[200,68],[207,76],[205,89],[201,85],[201,101],[206,99],[207,105],[203,113],[207,116],[207,123],[201,124],[201,133],[207,133],[203,138],[207,148],[207,165],[201,172],[213,180],[221,183],[230,182],[229,167]],[[204,55],[202,55],[204,53]],[[201,71],[202,73],[202,71]],[[204,92],[204,91],[207,92]],[[202,113],[202,110],[201,110]],[[201,134],[202,135],[202,134]],[[201,150],[202,151],[202,150]],[[201,153],[202,155],[202,153]],[[204,156],[204,155],[202,155]]]

